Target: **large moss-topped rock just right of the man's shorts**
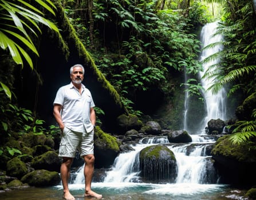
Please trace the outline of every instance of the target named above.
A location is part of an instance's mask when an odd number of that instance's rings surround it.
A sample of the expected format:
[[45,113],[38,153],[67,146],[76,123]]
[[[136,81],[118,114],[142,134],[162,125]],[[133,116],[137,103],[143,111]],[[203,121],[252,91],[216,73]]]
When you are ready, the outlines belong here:
[[99,126],[94,133],[94,155],[96,158],[95,167],[109,167],[119,154],[121,142],[116,137],[104,133]]

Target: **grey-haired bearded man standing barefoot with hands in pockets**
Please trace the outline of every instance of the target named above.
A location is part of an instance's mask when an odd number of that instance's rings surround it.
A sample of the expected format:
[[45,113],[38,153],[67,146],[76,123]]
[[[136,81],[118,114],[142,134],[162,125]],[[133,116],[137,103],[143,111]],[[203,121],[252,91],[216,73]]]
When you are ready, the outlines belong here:
[[95,105],[92,95],[82,84],[84,67],[82,65],[70,67],[70,78],[70,84],[60,87],[57,91],[53,103],[53,115],[61,129],[59,156],[63,159],[60,169],[64,191],[63,198],[75,199],[70,194],[68,181],[70,166],[76,150],[80,152],[85,161],[85,197],[101,198],[102,195],[91,189],[94,171],[93,134],[96,114],[93,109]]

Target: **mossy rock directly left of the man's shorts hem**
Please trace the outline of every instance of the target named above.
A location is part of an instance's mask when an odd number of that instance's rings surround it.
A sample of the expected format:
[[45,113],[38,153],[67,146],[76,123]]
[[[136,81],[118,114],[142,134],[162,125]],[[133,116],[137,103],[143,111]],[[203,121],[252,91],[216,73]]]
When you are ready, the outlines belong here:
[[60,171],[61,161],[56,152],[48,151],[33,158],[31,166],[36,170],[45,169],[49,171]]

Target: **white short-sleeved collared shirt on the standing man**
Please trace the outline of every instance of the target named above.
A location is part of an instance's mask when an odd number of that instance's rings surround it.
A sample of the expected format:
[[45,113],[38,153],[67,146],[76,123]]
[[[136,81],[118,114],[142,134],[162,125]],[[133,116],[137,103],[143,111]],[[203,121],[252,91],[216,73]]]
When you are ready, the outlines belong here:
[[93,130],[90,108],[95,105],[90,91],[84,85],[81,95],[72,82],[60,87],[53,104],[62,106],[61,118],[65,127],[81,133],[84,133],[84,129],[87,133]]

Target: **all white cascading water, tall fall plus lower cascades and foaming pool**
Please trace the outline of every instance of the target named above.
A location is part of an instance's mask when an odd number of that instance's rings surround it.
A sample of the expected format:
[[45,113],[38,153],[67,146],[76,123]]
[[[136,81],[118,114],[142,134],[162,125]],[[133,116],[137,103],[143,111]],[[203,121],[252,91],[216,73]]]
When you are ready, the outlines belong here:
[[[209,23],[203,27],[202,43],[207,46],[210,43],[217,42],[221,39],[220,36],[211,38],[214,33],[217,23]],[[221,47],[204,50],[202,59],[220,50]],[[218,62],[218,61],[214,61]],[[204,65],[207,66],[213,63]],[[202,73],[203,74],[203,73]],[[202,75],[201,74],[201,75]],[[208,82],[207,82],[208,81]],[[211,80],[202,80],[203,87],[207,87]],[[205,93],[207,106],[207,117],[204,119],[204,127],[210,119],[225,119],[225,90],[220,91],[216,95]],[[187,110],[186,110],[187,111]],[[185,125],[186,127],[186,125]],[[199,127],[200,130],[204,127]],[[143,138],[137,145],[132,146],[133,151],[121,153],[116,159],[111,169],[105,171],[105,177],[102,182],[92,183],[92,187],[103,193],[103,195],[111,196],[118,195],[123,199],[156,199],[161,195],[161,199],[172,199],[175,196],[176,200],[183,199],[218,199],[216,196],[220,190],[223,190],[224,185],[218,184],[218,174],[216,173],[211,161],[210,153],[207,153],[207,147],[215,142],[210,135],[191,134],[192,142],[190,143],[169,143],[168,138],[152,137]],[[145,183],[140,177],[140,162],[139,154],[142,149],[152,145],[165,145],[175,155],[177,174],[175,181],[162,183]],[[210,148],[211,149],[211,148]],[[148,166],[150,167],[150,166]],[[159,173],[159,172],[155,172]],[[166,179],[165,179],[166,181]],[[60,185],[60,188],[62,186]],[[84,188],[84,171],[83,167],[77,171],[76,179],[69,186],[70,190],[82,190]],[[131,196],[130,196],[131,195]],[[185,197],[184,197],[185,195]],[[207,196],[205,196],[207,195]],[[139,198],[131,198],[140,196]],[[188,197],[189,196],[189,197]],[[143,197],[143,198],[141,198]]]

